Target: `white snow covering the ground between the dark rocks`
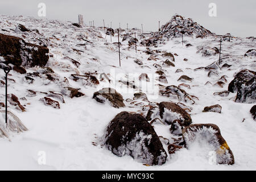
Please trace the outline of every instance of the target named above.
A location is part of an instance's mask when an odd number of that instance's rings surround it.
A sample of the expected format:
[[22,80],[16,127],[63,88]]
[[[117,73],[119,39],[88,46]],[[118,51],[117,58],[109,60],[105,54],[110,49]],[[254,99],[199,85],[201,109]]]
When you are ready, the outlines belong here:
[[[18,23],[23,24],[30,30],[38,29],[41,35],[36,32],[15,32]],[[59,81],[47,82],[42,78],[35,78],[34,84],[28,84],[24,81],[24,75],[11,71],[9,78],[15,82],[9,81],[9,93],[15,94],[18,98],[26,97],[26,100],[20,100],[22,105],[26,105],[26,111],[22,112],[10,106],[10,109],[16,114],[28,131],[11,135],[11,142],[6,138],[0,138],[0,169],[53,169],[53,170],[255,170],[256,169],[256,122],[249,112],[254,104],[240,104],[234,102],[235,93],[229,93],[227,97],[214,96],[214,92],[228,90],[228,84],[242,68],[256,71],[255,57],[243,56],[248,49],[255,48],[255,41],[246,38],[233,38],[231,42],[222,42],[222,57],[230,55],[228,59],[223,59],[222,64],[232,65],[230,68],[218,70],[218,76],[208,77],[205,69],[194,71],[199,67],[206,67],[218,60],[218,54],[205,57],[197,52],[197,46],[219,47],[219,38],[209,36],[200,39],[195,36],[184,36],[184,46],[181,44],[181,38],[172,38],[166,44],[159,44],[158,47],[150,47],[150,50],[166,51],[176,53],[175,67],[162,66],[168,84],[179,85],[182,82],[177,81],[181,75],[187,75],[193,78],[192,82],[187,82],[191,89],[183,89],[199,98],[195,99],[195,104],[188,105],[192,107],[189,114],[192,123],[214,123],[220,127],[222,137],[228,143],[233,151],[235,164],[212,165],[208,162],[208,151],[199,146],[192,148],[182,148],[175,154],[168,156],[167,162],[162,166],[143,166],[136,162],[130,156],[119,158],[101,144],[93,145],[92,142],[99,143],[100,138],[108,123],[121,111],[141,111],[140,106],[124,102],[126,107],[116,109],[108,103],[100,104],[94,100],[93,93],[108,85],[108,82],[102,81],[100,85],[83,85],[81,81],[73,81],[71,74],[94,73],[100,80],[100,73],[122,73],[134,76],[135,84],[141,73],[148,75],[155,73],[157,68],[153,64],[162,65],[166,58],[159,54],[157,60],[147,60],[150,55],[143,51],[145,46],[137,44],[137,53],[135,47],[129,48],[128,41],[121,42],[121,68],[119,68],[118,58],[118,38],[117,34],[112,37],[106,35],[103,28],[82,27],[77,28],[71,25],[72,22],[60,22],[59,20],[34,19],[22,16],[0,15],[0,33],[13,35],[23,38],[26,42],[39,44],[40,40],[47,44],[49,58],[47,67],[51,67]],[[3,31],[1,29],[7,30]],[[130,30],[136,32],[139,42],[142,37],[139,36],[139,30]],[[122,33],[123,34],[123,33]],[[89,40],[92,43],[85,42],[82,39]],[[40,39],[40,40],[38,40]],[[120,41],[122,37],[120,38]],[[185,44],[191,43],[191,47]],[[77,46],[77,44],[86,44]],[[77,49],[80,51],[74,51]],[[82,51],[82,52],[81,52]],[[65,56],[79,61],[81,65],[77,68],[70,60],[64,59]],[[135,59],[143,62],[143,67],[134,63]],[[184,61],[188,59],[188,61]],[[40,68],[27,68],[27,72],[35,72]],[[183,72],[175,73],[176,69],[182,69]],[[134,73],[137,73],[134,74]],[[130,76],[129,75],[129,76]],[[223,88],[213,86],[221,76],[226,75],[227,82]],[[121,84],[118,78],[113,74],[108,75],[110,80],[115,80],[115,89],[122,94],[123,98],[133,99],[133,93],[138,89],[131,89],[132,92],[122,92]],[[73,88],[81,88],[83,97],[69,98],[64,96],[65,103],[59,101],[60,109],[54,109],[46,106],[39,99],[45,95],[40,92],[54,91],[61,93],[63,89],[64,77],[68,78],[69,85]],[[0,71],[0,80],[5,80],[5,73]],[[154,85],[151,79],[150,84]],[[209,81],[212,85],[205,85]],[[64,84],[65,85],[65,84]],[[67,85],[65,85],[67,86]],[[110,87],[113,87],[114,83]],[[35,97],[28,97],[27,90],[38,91]],[[0,87],[0,101],[5,102],[5,87]],[[150,95],[150,93],[148,93]],[[151,99],[150,99],[151,98]],[[174,101],[175,98],[163,96],[149,97],[150,101]],[[53,100],[56,100],[53,98]],[[219,104],[222,106],[221,113],[207,112],[203,113],[205,106]],[[186,104],[187,105],[187,104]],[[2,108],[3,110],[3,108]],[[4,121],[5,115],[2,113],[1,121]],[[243,121],[243,119],[245,119]],[[243,121],[243,122],[242,122]],[[172,140],[174,137],[167,125],[154,126],[159,136]],[[164,146],[167,151],[167,146]],[[38,160],[42,151],[46,154],[46,165],[40,165]],[[168,152],[167,152],[168,153]]]

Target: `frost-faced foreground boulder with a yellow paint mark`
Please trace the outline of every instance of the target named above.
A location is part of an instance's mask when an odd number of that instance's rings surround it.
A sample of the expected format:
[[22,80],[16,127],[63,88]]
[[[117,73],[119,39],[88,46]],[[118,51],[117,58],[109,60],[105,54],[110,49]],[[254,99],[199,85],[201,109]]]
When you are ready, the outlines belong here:
[[196,124],[182,130],[185,147],[189,148],[194,142],[209,145],[209,151],[214,150],[217,164],[234,164],[234,155],[220,129],[214,124]]

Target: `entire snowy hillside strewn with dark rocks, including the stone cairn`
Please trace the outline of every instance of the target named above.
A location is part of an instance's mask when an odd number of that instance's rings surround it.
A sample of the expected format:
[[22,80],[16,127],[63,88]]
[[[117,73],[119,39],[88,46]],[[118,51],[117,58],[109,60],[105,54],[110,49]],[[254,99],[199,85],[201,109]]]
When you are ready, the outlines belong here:
[[0,15],[1,169],[255,169],[255,38],[119,34],[121,62],[117,30]]

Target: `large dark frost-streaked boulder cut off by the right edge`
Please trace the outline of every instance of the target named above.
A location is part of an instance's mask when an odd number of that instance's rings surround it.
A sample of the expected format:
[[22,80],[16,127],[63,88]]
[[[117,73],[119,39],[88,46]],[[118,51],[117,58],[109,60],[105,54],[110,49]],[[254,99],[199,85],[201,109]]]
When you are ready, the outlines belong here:
[[256,102],[256,72],[244,69],[237,73],[228,86],[229,92],[237,92],[235,102],[253,104]]

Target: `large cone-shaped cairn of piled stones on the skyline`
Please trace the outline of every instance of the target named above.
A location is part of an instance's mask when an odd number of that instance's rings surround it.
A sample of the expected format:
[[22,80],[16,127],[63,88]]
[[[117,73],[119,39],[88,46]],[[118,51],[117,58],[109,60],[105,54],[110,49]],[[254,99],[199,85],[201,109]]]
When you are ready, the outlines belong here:
[[151,38],[142,42],[146,46],[155,44],[156,42],[163,43],[164,40],[171,38],[184,36],[193,36],[196,38],[203,38],[205,36],[214,35],[212,32],[201,26],[200,24],[194,22],[191,18],[184,18],[180,15],[174,15],[169,22],[164,24],[158,32],[155,32]]

